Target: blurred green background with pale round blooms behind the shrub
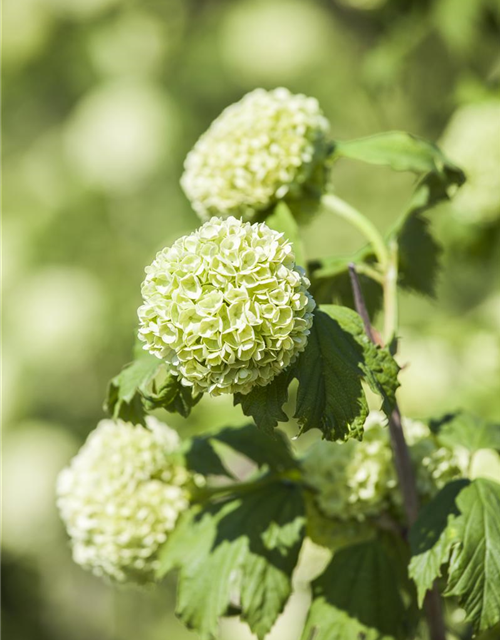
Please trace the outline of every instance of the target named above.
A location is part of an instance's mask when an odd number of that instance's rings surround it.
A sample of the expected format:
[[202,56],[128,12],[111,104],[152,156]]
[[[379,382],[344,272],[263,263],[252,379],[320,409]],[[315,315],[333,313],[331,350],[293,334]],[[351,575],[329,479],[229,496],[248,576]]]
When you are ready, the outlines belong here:
[[[499,0],[4,0],[5,640],[195,637],[172,581],[117,591],[72,564],[54,481],[131,357],[144,266],[198,224],[179,187],[186,153],[256,86],[317,97],[335,138],[404,129],[466,170],[432,213],[437,300],[402,297],[401,404],[498,419],[499,36]],[[414,185],[347,161],[333,181],[381,229]],[[303,235],[310,258],[362,244],[327,214]],[[181,435],[243,421],[225,398],[167,419]],[[306,556],[271,640],[299,637]],[[249,638],[221,626],[220,640]]]

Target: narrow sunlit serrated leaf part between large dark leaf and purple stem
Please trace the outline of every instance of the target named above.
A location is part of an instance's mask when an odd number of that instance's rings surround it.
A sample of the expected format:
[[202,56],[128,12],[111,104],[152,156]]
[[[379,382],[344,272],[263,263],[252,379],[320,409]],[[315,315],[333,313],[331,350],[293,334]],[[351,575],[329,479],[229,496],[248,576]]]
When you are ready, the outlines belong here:
[[358,313],[347,307],[323,305],[321,310],[354,337],[362,349],[360,369],[372,391],[382,398],[382,409],[390,416],[396,405],[399,366],[387,348],[382,348],[366,335]]

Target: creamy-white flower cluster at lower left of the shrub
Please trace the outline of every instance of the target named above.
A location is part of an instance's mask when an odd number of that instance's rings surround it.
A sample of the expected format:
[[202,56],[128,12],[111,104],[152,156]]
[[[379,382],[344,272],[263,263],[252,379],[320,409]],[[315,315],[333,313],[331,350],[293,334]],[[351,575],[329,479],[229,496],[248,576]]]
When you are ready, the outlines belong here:
[[154,580],[157,552],[188,507],[190,476],[175,431],[102,420],[57,480],[73,559],[116,582]]

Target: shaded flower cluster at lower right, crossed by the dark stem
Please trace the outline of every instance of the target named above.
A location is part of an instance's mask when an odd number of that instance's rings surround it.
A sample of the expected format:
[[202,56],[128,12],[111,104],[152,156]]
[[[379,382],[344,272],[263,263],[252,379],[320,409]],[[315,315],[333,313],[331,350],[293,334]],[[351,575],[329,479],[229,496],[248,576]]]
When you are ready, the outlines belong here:
[[[423,502],[463,477],[467,461],[441,445],[422,422],[404,420],[417,490]],[[402,503],[385,417],[371,412],[362,442],[318,442],[303,459],[305,478],[319,511],[342,521],[364,521],[384,512],[400,515]]]

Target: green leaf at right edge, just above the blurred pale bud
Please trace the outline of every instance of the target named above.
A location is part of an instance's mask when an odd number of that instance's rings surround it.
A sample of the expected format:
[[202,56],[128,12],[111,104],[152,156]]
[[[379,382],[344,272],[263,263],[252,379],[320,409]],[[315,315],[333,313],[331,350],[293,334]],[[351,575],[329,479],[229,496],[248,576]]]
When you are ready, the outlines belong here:
[[470,413],[459,411],[430,422],[438,439],[451,448],[465,447],[472,453],[480,449],[500,451],[500,425],[486,422]]

